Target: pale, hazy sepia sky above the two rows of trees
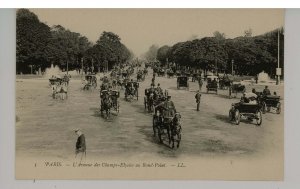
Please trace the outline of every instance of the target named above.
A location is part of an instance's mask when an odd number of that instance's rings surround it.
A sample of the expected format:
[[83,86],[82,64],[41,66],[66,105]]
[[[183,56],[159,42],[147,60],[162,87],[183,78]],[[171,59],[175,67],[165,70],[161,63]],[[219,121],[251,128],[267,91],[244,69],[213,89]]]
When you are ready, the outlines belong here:
[[177,42],[225,33],[260,35],[284,26],[283,9],[30,9],[49,26],[62,25],[95,43],[103,31],[119,35],[136,56],[152,44]]

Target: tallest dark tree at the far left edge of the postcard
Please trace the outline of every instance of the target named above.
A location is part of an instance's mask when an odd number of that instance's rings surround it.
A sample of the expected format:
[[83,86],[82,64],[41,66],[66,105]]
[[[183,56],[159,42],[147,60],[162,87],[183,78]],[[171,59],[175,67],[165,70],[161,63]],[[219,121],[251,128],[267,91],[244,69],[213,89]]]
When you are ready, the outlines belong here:
[[50,28],[28,9],[19,9],[16,20],[17,72],[30,73],[45,68],[49,61]]

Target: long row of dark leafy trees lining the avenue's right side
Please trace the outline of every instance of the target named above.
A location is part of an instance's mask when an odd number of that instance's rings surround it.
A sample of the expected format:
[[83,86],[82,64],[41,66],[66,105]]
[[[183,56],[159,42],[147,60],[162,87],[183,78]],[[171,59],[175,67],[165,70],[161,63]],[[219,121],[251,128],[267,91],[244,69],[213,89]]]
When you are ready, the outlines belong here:
[[280,67],[283,68],[284,35],[277,29],[264,35],[252,37],[252,30],[245,36],[226,39],[224,33],[215,32],[214,37],[179,42],[173,46],[157,49],[156,59],[166,64],[175,62],[180,66],[200,68],[205,71],[232,72],[256,75],[261,71],[275,75],[277,67],[278,31],[280,36]]

